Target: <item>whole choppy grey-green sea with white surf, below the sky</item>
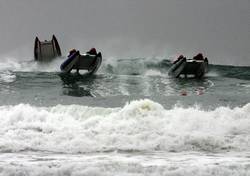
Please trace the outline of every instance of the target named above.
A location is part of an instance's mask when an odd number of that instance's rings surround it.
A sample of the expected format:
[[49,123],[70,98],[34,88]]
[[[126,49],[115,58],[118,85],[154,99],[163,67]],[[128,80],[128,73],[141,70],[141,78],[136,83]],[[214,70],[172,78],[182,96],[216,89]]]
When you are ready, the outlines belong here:
[[162,59],[0,66],[0,175],[250,175],[250,68],[172,79]]

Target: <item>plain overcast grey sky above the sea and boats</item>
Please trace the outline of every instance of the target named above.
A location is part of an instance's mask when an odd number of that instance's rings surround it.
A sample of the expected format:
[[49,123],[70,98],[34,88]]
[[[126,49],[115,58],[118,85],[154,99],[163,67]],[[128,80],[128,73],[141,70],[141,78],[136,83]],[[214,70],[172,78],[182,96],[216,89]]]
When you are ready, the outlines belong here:
[[92,46],[107,57],[203,52],[212,63],[250,65],[249,0],[0,0],[0,24],[1,53],[31,56],[36,35],[55,34],[64,54]]

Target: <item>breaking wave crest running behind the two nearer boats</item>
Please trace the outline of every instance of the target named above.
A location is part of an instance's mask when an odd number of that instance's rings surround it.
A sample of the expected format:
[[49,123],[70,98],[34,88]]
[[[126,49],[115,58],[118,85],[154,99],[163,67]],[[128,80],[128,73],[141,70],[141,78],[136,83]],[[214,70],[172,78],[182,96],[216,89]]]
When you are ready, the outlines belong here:
[[[64,57],[56,58],[52,62],[40,63],[34,60],[18,60],[16,58],[2,58],[0,72],[60,72],[60,65]],[[98,73],[116,75],[146,75],[166,76],[171,66],[171,61],[165,58],[103,58],[103,63]],[[249,67],[210,65],[209,77],[231,77],[249,80]]]

